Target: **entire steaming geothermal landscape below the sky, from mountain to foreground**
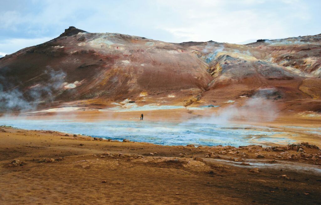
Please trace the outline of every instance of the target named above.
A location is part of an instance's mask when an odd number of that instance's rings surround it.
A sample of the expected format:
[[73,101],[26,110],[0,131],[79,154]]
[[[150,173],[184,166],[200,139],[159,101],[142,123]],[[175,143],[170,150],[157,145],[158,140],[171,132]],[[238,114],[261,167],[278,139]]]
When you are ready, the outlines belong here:
[[320,78],[321,34],[69,27],[0,58],[0,204],[321,204]]

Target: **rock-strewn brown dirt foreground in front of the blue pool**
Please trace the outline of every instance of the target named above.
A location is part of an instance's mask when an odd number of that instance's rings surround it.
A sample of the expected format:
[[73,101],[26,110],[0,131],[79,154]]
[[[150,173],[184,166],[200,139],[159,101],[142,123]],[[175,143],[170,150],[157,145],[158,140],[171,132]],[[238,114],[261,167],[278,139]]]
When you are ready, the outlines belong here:
[[309,144],[160,146],[10,127],[0,140],[0,204],[321,204]]

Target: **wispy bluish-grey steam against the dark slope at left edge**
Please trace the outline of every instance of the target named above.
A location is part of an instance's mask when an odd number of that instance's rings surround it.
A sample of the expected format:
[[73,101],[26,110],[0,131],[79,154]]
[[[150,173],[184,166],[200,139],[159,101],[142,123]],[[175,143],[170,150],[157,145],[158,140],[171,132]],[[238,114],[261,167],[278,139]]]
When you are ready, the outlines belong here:
[[[0,76],[0,111],[29,111],[36,109],[39,102],[51,102],[54,92],[63,86],[66,74],[47,66],[43,76],[48,80],[39,82],[39,86],[27,90],[14,87],[12,82],[15,82],[15,79],[9,80],[5,76]],[[14,88],[8,89],[10,87]]]

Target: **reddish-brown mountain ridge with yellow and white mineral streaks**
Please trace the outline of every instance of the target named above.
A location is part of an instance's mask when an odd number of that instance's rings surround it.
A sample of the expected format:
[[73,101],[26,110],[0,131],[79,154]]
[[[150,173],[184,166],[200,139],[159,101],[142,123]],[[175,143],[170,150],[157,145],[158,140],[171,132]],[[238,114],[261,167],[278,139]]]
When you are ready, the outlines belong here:
[[[280,109],[315,111],[321,35],[247,45],[167,43],[69,27],[57,38],[0,58],[0,77],[3,112],[88,101],[112,107],[127,98],[138,105],[223,106],[266,90],[265,98],[282,104]],[[11,102],[10,94],[29,105]],[[293,100],[301,105],[289,105]]]

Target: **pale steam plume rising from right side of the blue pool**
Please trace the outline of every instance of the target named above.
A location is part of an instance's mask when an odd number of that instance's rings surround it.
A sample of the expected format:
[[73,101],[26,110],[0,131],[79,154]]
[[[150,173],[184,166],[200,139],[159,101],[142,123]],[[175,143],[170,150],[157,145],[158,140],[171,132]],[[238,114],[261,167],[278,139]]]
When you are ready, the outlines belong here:
[[243,106],[237,104],[221,109],[211,117],[193,119],[191,123],[207,123],[225,125],[232,120],[244,120],[246,122],[270,122],[276,119],[277,109],[266,98],[253,97],[248,99]]

